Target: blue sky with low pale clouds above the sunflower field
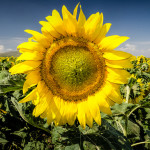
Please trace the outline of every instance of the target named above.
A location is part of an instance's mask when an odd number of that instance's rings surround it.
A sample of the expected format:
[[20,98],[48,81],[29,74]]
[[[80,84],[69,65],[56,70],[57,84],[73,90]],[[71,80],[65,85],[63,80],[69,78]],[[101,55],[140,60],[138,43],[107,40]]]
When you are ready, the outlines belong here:
[[53,9],[61,13],[66,5],[73,12],[80,2],[86,18],[92,13],[103,12],[104,23],[112,23],[109,35],[129,36],[119,46],[135,56],[150,57],[150,1],[149,0],[1,0],[0,1],[0,52],[16,50],[17,45],[30,37],[24,32],[40,32],[38,23],[51,15]]

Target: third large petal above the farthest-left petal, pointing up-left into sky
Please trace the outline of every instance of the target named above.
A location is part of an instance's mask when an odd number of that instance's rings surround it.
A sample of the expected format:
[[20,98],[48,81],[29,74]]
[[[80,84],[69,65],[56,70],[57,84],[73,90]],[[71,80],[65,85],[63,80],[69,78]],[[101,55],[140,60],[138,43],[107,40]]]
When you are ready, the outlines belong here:
[[48,48],[50,46],[50,43],[52,42],[51,39],[48,39],[46,36],[43,34],[33,31],[33,30],[25,30],[25,32],[32,34],[33,39],[37,42],[39,42],[41,45],[43,45],[45,48]]

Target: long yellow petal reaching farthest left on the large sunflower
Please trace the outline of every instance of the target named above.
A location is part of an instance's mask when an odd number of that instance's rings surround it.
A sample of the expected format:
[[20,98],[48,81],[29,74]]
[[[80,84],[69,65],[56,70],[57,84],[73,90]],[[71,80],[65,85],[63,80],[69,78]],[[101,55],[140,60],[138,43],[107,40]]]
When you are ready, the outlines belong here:
[[13,66],[11,69],[9,69],[9,72],[11,72],[11,74],[27,73],[28,71],[39,67],[40,64],[41,61],[25,61]]

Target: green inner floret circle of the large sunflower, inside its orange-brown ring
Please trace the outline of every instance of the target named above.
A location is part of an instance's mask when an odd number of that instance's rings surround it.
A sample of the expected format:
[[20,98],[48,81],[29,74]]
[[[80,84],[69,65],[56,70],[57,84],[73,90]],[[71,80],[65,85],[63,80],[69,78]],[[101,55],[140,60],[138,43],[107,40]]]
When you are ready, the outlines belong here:
[[86,47],[66,46],[53,55],[51,63],[50,72],[60,88],[79,91],[94,82],[97,65]]

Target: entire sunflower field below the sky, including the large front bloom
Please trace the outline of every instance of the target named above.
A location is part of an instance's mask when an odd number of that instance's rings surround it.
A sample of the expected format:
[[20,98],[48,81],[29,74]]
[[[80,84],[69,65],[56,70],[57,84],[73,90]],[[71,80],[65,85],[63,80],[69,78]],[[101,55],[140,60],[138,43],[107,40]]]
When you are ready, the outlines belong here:
[[0,149],[150,149],[150,59],[116,50],[129,37],[103,18],[63,5],[0,58]]

